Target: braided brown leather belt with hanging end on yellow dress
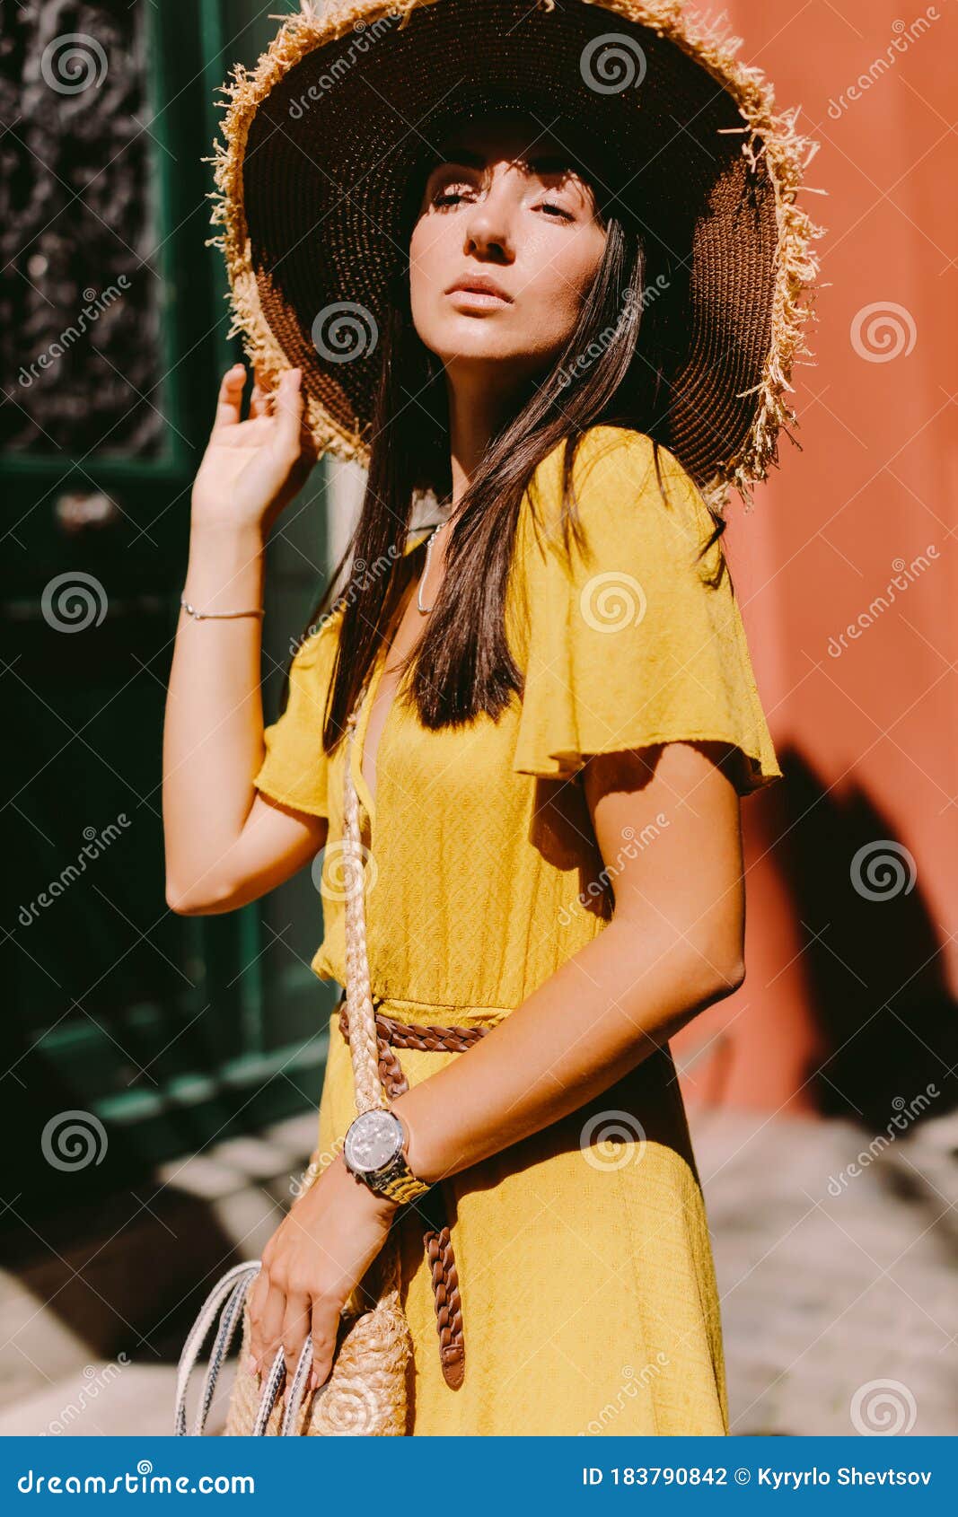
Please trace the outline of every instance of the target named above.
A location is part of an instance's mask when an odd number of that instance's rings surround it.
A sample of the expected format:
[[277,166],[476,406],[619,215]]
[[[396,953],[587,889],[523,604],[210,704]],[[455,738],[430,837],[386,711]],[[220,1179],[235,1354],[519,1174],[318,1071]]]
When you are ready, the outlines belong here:
[[[372,997],[373,1007],[378,997]],[[377,1048],[380,1054],[380,1079],[390,1100],[408,1091],[408,1080],[395,1048],[418,1048],[424,1053],[466,1053],[472,1044],[484,1038],[489,1027],[437,1027],[424,1022],[399,1022],[377,1012]],[[349,1042],[349,1013],[346,997],[339,1003],[339,1025]],[[436,1329],[439,1332],[439,1362],[442,1374],[454,1391],[463,1384],[466,1373],[466,1344],[463,1338],[463,1303],[459,1289],[459,1271],[452,1253],[452,1238],[446,1215],[446,1200],[442,1180],[416,1203],[427,1218],[422,1242],[433,1276],[433,1302],[436,1306]]]

